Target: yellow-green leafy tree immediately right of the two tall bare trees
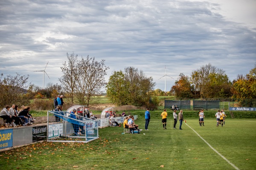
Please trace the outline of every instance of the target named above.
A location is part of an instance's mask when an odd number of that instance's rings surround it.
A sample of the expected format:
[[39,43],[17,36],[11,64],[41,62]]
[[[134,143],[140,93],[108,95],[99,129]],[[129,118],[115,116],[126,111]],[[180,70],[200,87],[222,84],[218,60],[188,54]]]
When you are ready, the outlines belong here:
[[107,88],[107,95],[111,102],[118,106],[126,105],[126,97],[128,94],[127,83],[125,82],[125,75],[122,71],[114,71],[109,77]]

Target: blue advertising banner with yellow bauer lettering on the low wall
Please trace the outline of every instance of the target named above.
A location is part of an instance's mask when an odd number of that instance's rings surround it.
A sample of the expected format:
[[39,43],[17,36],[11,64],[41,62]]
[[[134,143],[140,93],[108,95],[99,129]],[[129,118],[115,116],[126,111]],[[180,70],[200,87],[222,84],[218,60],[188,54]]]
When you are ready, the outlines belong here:
[[12,129],[0,130],[0,149],[12,147]]

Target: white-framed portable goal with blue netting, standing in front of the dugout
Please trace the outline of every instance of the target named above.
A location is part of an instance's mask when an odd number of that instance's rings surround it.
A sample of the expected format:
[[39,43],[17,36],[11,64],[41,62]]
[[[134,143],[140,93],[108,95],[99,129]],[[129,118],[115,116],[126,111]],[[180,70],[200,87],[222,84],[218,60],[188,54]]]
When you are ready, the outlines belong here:
[[[50,123],[50,118],[55,122]],[[47,141],[52,142],[87,143],[99,138],[96,121],[61,111],[48,111],[47,132]]]

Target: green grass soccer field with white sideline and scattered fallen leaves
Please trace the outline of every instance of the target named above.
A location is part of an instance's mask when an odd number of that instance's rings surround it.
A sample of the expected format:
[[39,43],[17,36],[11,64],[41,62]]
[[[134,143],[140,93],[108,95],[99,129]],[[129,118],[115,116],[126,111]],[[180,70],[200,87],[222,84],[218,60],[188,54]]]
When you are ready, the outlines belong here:
[[[87,144],[43,142],[0,153],[0,169],[34,170],[252,170],[256,169],[256,119],[186,119],[183,130],[167,119],[135,123],[140,134],[122,134],[122,127],[99,129],[100,139]],[[145,134],[143,134],[145,133]],[[163,166],[162,166],[163,165]],[[161,167],[162,166],[162,167]]]

